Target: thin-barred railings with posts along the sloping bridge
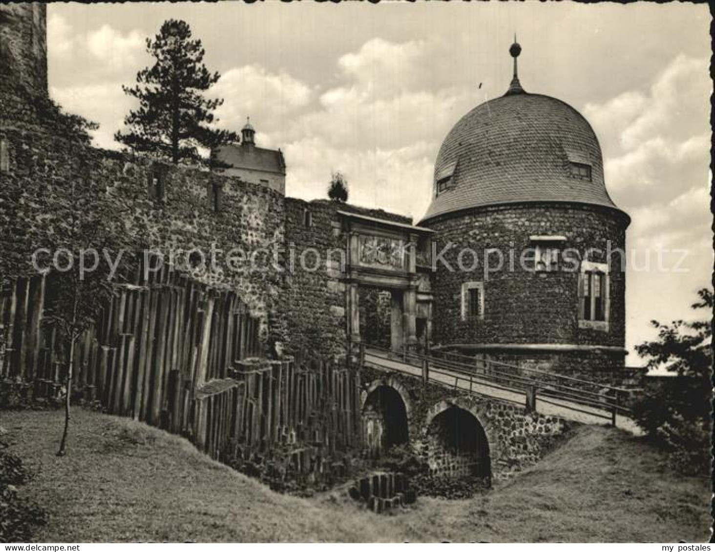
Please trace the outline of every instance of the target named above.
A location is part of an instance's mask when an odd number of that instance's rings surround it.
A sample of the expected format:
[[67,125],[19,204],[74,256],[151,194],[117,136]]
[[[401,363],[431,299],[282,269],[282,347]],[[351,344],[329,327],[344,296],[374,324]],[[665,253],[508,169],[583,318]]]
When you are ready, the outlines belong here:
[[[630,408],[626,406],[628,390],[596,381],[451,352],[438,351],[436,354],[425,355],[407,348],[403,348],[400,353],[376,346],[370,346],[370,349],[378,351],[385,358],[420,368],[425,381],[434,380],[430,375],[435,373],[443,376],[440,383],[445,383],[445,378],[454,378],[455,388],[459,388],[460,381],[464,381],[463,388],[468,385],[470,391],[480,385],[524,393],[528,409],[536,408],[538,398],[544,403],[609,419],[613,425],[617,415],[631,415]],[[361,350],[361,356],[364,358],[364,349]]]

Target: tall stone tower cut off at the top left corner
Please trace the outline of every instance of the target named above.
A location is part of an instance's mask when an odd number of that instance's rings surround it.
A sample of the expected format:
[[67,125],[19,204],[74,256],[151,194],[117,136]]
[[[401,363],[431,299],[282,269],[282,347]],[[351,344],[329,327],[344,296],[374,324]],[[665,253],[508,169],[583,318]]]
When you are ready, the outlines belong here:
[[4,86],[47,94],[47,15],[39,2],[0,4],[0,74]]

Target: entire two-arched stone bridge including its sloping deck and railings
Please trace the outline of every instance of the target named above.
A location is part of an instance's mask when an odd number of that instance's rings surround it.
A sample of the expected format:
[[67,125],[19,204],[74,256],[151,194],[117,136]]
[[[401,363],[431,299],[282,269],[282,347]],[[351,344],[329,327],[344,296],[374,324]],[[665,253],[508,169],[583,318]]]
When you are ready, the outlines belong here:
[[591,381],[375,348],[363,348],[360,365],[368,454],[408,444],[436,474],[507,477],[538,461],[574,423],[638,432],[627,391]]

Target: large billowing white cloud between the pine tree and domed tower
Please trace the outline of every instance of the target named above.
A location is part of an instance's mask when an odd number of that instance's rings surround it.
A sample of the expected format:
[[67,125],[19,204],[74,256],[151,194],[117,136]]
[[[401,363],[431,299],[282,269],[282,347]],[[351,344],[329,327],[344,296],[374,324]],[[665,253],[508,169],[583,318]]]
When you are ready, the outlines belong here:
[[256,64],[229,69],[212,89],[225,100],[220,126],[238,130],[250,115],[257,144],[284,151],[292,196],[325,197],[331,171],[340,170],[350,201],[418,218],[441,140],[478,101],[451,83],[425,86],[429,52],[424,41],[370,39],[336,60],[324,89]]

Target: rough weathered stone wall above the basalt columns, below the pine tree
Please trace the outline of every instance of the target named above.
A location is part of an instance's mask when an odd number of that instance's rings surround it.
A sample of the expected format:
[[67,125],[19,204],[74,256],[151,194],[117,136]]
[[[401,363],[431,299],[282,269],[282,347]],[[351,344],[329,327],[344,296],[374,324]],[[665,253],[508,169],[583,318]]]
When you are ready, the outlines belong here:
[[[280,272],[272,265],[267,270],[250,270],[247,261],[229,266],[226,253],[234,248],[245,256],[256,252],[255,259],[263,266],[269,254],[272,259],[272,252],[280,251],[284,239],[280,194],[228,176],[94,149],[54,134],[0,128],[0,135],[9,161],[7,170],[0,171],[4,200],[0,247],[15,251],[27,269],[34,247],[19,239],[19,230],[24,228],[20,234],[29,234],[31,226],[42,224],[39,215],[66,200],[74,179],[89,179],[98,194],[114,194],[122,206],[129,206],[128,229],[136,234],[139,249],[157,249],[168,263],[172,251],[192,249],[208,261],[213,246],[217,269],[202,271],[199,266],[192,277],[237,293],[261,320],[267,338],[268,320],[275,315],[271,311],[282,286]],[[154,177],[162,181],[162,199],[153,195]],[[220,209],[215,211],[213,195],[217,193]]]

